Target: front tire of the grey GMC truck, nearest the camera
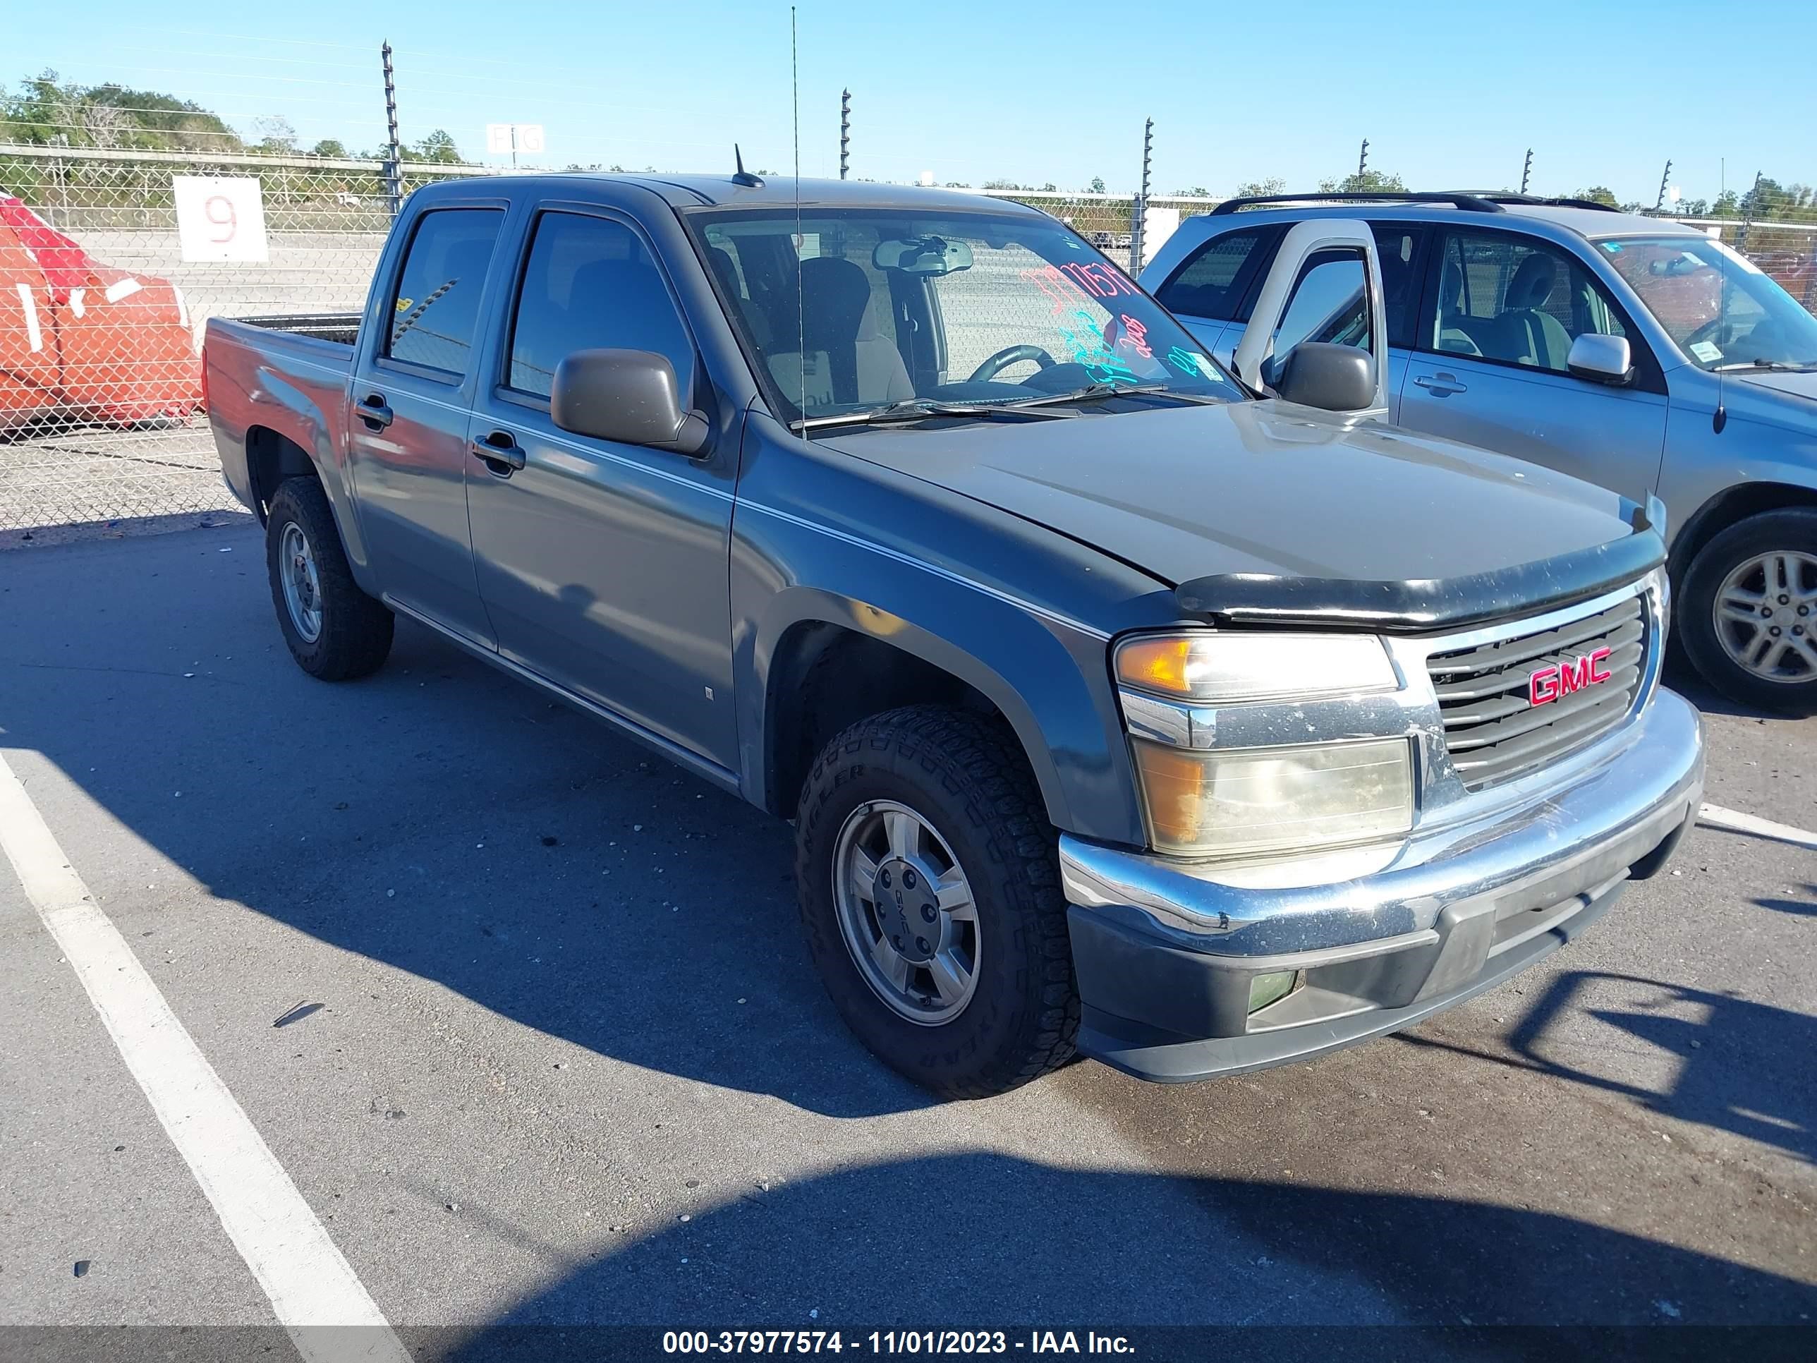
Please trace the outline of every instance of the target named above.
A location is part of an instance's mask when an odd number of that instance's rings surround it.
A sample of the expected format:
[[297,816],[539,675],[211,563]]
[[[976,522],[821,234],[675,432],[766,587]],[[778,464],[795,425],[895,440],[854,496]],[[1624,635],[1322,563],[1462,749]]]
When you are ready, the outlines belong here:
[[[930,932],[943,934],[941,943],[950,943],[943,952],[948,985],[958,974],[952,961],[963,963],[967,949],[972,963],[968,998],[938,1020],[932,1009],[905,1016],[899,990],[872,983],[878,974],[859,963],[854,943],[858,932],[885,936],[885,923],[912,921],[919,930],[930,909],[925,876],[914,876],[908,861],[889,860],[889,829],[870,843],[879,852],[872,890],[881,900],[867,903],[834,887],[843,840],[861,843],[865,829],[876,820],[889,825],[899,809],[925,827],[914,865],[938,872],[950,860],[970,889],[970,921],[963,907],[925,920],[936,923]],[[796,820],[801,923],[834,1007],[883,1063],[939,1098],[987,1098],[1072,1058],[1079,994],[1057,845],[1034,774],[999,721],[914,705],[863,720],[821,751]],[[898,867],[894,887],[879,889],[890,865]],[[907,907],[890,918],[890,901],[899,901],[903,890]],[[849,912],[858,918],[856,929],[841,925]],[[934,961],[914,967],[908,990],[928,992],[930,1003],[948,1007],[932,998],[932,970]]]

